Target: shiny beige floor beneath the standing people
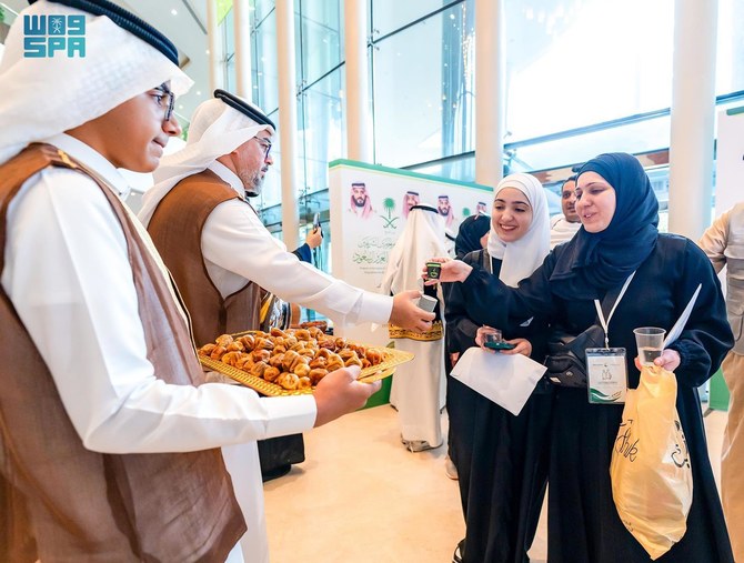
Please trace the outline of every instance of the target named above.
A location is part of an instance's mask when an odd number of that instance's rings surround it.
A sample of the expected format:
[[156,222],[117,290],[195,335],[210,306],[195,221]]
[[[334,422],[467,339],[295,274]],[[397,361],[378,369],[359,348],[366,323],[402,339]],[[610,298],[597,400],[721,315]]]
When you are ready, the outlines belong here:
[[[443,416],[446,424],[446,415]],[[726,413],[705,419],[716,479]],[[410,453],[388,405],[305,434],[308,461],[265,485],[272,563],[449,563],[464,534],[445,446]],[[546,559],[545,511],[530,552]]]

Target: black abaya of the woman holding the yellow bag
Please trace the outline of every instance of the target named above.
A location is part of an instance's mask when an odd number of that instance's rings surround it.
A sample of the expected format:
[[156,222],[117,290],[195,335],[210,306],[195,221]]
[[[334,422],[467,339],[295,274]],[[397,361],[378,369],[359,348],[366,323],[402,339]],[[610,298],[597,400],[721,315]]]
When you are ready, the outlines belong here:
[[[503,308],[524,318],[542,312],[574,333],[595,322],[591,299],[565,300],[552,293],[551,272],[565,248],[557,247],[519,290],[473,270],[463,283],[467,314],[490,324]],[[682,237],[658,235],[651,255],[639,267],[610,323],[610,345],[627,351],[629,386],[639,384],[633,329],[667,331],[697,284],[695,308],[680,339],[670,348],[681,356],[675,370],[676,408],[693,471],[693,502],[687,531],[658,562],[731,563],[733,555],[716,490],[697,395],[697,386],[718,369],[733,345],[718,280],[705,254]],[[595,295],[602,299],[602,292]],[[495,308],[494,303],[500,306]],[[585,390],[556,388],[551,429],[549,561],[551,563],[635,563],[651,559],[625,530],[612,499],[610,460],[622,405],[589,404]],[[485,560],[484,560],[485,561]]]

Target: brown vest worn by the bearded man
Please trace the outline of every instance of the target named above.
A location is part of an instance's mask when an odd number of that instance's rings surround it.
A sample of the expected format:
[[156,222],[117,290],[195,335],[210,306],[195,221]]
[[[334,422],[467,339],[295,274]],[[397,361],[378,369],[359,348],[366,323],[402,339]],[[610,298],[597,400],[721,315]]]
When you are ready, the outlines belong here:
[[189,308],[197,345],[213,342],[220,334],[259,326],[261,288],[249,282],[223,299],[202,257],[201,232],[207,219],[215,207],[232,199],[240,199],[235,190],[211,170],[204,170],[175,184],[158,204],[148,225],[152,242]]

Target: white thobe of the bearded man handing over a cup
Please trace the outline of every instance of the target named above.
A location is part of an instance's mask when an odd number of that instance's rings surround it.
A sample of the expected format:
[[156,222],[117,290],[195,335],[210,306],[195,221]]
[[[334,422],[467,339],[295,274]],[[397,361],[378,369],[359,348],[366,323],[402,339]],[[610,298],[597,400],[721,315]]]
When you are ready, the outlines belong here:
[[[244,197],[240,178],[230,169],[217,161],[209,169]],[[253,281],[285,301],[320,311],[340,325],[365,321],[384,324],[390,319],[392,298],[354,288],[298,260],[242,201],[229,200],[214,208],[204,223],[201,248],[207,272],[223,298]],[[241,540],[243,557],[247,563],[267,563],[269,542],[258,446],[225,448],[223,454],[248,522],[248,533]]]

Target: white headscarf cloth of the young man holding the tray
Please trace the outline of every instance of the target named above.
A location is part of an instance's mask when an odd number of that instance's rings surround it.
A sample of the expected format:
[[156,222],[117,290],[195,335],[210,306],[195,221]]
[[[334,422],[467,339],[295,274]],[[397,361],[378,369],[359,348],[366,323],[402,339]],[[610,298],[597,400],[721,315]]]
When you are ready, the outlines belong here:
[[[86,57],[23,57],[23,16],[86,17]],[[0,62],[0,164],[29,143],[99,118],[171,81],[175,94],[193,83],[163,53],[105,16],[40,0],[13,22]]]

